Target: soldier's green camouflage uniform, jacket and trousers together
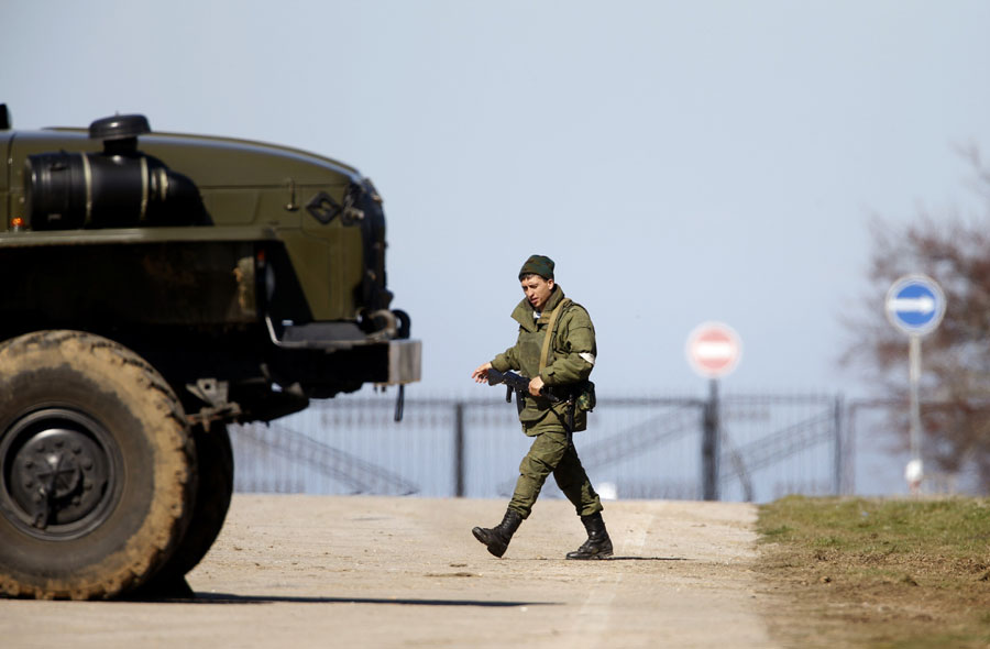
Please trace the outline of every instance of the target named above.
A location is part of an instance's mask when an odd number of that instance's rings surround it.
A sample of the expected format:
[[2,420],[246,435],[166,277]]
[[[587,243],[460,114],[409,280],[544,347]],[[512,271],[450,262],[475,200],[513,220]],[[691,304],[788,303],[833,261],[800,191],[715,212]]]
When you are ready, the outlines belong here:
[[[543,339],[550,334],[547,330],[550,315],[564,297],[560,285],[556,286],[539,318],[529,301],[521,300],[513,310],[513,319],[519,322],[519,338],[514,346],[492,361],[492,367],[499,372],[515,370],[524,376],[539,375],[547,389],[561,399],[551,404],[549,399],[527,395],[526,407],[519,414],[522,432],[536,438],[519,465],[519,480],[509,503],[509,508],[522,518],[529,516],[550,473],[579,516],[602,510],[602,501],[568,438],[566,400],[572,391],[587,381],[597,354],[595,328],[584,307],[572,301],[564,305],[553,328],[547,366],[542,372],[539,369]],[[574,431],[586,428],[587,413],[575,408]]]

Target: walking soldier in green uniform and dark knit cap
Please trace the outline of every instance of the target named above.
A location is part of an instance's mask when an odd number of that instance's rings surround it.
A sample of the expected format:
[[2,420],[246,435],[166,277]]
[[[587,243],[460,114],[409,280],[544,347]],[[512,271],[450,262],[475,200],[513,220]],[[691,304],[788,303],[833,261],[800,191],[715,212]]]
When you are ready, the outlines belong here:
[[[493,369],[516,370],[532,377],[519,420],[522,432],[534,441],[519,465],[519,480],[505,518],[493,528],[475,527],[471,531],[488,552],[502,557],[532,510],[547,476],[553,473],[587,530],[587,540],[566,558],[612,557],[602,501],[571,439],[571,433],[587,427],[587,411],[594,407],[594,384],[587,377],[595,365],[595,328],[584,307],[564,297],[553,279],[553,261],[549,257],[532,255],[526,260],[519,282],[526,297],[513,311],[513,319],[519,322],[516,344],[479,366],[471,377],[484,383]],[[548,394],[559,400],[551,403]],[[517,393],[516,398],[521,395]]]

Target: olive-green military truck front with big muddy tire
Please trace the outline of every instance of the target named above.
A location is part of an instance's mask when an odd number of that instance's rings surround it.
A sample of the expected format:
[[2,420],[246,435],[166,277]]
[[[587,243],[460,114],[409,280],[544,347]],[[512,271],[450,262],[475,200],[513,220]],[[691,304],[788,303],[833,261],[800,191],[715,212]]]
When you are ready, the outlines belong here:
[[140,114],[0,105],[0,594],[189,594],[227,427],[418,381],[382,198],[356,169]]

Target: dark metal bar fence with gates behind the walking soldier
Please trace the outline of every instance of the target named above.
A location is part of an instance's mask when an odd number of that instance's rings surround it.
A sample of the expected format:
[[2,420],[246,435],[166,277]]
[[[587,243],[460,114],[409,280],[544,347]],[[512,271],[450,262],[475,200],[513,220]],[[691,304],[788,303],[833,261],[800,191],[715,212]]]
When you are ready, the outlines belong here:
[[[717,443],[703,452],[716,409]],[[275,421],[231,427],[235,488],[311,494],[505,497],[530,439],[502,399],[343,397]],[[844,493],[850,472],[835,395],[600,398],[576,433],[603,497],[768,501]],[[714,471],[714,473],[713,473]],[[710,483],[705,482],[706,474]],[[561,497],[549,480],[543,494]]]

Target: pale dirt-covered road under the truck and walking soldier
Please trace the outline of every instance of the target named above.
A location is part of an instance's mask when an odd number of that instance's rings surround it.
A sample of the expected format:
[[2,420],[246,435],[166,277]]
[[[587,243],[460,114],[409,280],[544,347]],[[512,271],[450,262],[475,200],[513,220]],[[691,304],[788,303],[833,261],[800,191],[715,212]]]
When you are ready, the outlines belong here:
[[755,508],[607,503],[613,561],[541,501],[503,559],[471,536],[505,503],[237,495],[195,602],[0,601],[4,648],[772,647]]

